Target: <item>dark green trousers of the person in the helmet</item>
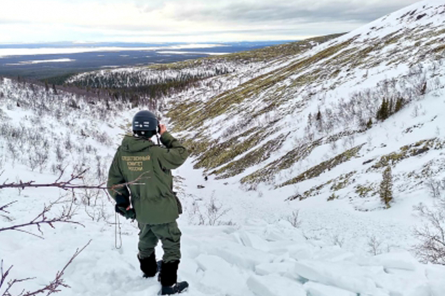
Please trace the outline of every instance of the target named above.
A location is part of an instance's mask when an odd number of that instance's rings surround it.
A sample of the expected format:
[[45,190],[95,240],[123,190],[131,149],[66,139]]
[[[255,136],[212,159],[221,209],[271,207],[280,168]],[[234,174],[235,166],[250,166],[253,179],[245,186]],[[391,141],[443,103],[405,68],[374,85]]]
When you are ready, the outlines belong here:
[[158,241],[162,242],[164,262],[171,262],[181,259],[181,231],[176,221],[166,224],[141,224],[139,232],[139,258],[150,257],[154,252],[154,247]]

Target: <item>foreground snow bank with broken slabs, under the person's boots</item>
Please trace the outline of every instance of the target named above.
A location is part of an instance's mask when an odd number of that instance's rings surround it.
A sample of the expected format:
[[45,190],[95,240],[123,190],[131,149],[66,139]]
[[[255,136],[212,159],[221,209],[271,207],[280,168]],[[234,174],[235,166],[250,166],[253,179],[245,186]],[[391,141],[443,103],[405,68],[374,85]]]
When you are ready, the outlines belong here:
[[[18,204],[12,212],[16,221],[38,212],[45,195],[48,199],[56,195],[54,190],[21,197],[12,190],[3,193],[7,199],[28,201]],[[135,223],[121,218],[122,247],[116,249],[111,203],[105,211],[108,222],[92,221],[78,211],[76,220],[85,228],[71,224],[46,227],[44,240],[19,232],[2,232],[0,257],[5,265],[15,265],[12,276],[37,276],[27,283],[31,289],[51,280],[74,250],[92,239],[66,270],[64,278],[72,288],[64,289],[61,295],[157,295],[160,284],[156,279],[142,278],[139,270]],[[2,220],[2,224],[9,223],[12,222]],[[178,276],[190,284],[185,295],[445,295],[444,266],[420,264],[408,252],[377,256],[354,253],[338,245],[306,239],[301,229],[287,221],[253,219],[239,226],[187,226],[181,222],[180,228],[182,262]],[[160,245],[156,253],[160,259]]]

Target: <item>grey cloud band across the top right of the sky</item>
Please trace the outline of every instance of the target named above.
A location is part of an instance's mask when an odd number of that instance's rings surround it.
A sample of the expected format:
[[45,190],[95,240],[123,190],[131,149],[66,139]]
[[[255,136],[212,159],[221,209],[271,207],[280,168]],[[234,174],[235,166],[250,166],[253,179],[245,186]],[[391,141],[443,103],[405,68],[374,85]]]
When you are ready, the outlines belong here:
[[195,1],[174,8],[176,20],[231,21],[241,23],[291,21],[359,21],[368,23],[417,0],[259,0]]

